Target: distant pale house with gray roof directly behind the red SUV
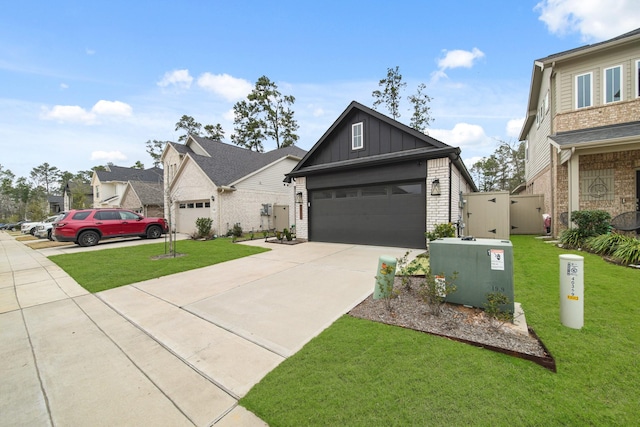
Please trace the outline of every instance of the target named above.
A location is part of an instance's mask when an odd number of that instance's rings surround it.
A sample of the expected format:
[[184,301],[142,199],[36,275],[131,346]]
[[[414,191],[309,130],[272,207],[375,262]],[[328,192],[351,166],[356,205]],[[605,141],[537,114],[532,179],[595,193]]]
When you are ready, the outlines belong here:
[[129,181],[162,185],[163,171],[160,168],[136,169],[108,165],[106,169],[93,172],[91,186],[94,208],[122,207],[122,196]]

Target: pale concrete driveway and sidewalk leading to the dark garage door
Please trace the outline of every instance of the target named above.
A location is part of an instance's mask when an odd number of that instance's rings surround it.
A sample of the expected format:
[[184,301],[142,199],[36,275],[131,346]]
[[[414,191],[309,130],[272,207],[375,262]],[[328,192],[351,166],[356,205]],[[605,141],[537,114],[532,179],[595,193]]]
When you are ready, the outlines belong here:
[[264,425],[238,398],[372,292],[379,256],[406,251],[253,241],[272,250],[88,294],[0,243],[3,426]]

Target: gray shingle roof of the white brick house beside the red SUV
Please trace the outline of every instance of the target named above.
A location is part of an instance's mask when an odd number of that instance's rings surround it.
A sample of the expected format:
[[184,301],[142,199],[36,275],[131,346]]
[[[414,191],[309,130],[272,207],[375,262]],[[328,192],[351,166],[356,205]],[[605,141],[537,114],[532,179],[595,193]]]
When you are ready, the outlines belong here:
[[[286,156],[299,159],[307,153],[295,145],[258,153],[235,145],[225,144],[207,138],[191,136],[211,157],[198,155],[188,146],[171,143],[173,147],[180,147],[178,152],[185,150],[189,156],[207,174],[216,185],[230,185],[233,182],[275,162]],[[284,176],[283,176],[284,179]]]

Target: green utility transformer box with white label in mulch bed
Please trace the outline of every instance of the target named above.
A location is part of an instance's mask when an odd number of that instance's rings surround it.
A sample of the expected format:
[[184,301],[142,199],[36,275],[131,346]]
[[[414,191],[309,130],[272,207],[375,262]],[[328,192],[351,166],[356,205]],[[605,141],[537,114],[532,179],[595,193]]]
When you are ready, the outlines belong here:
[[[501,292],[513,313],[513,245],[509,240],[445,238],[429,242],[431,274],[453,281],[456,291],[446,301],[484,308],[487,294]],[[454,280],[454,273],[457,278]]]

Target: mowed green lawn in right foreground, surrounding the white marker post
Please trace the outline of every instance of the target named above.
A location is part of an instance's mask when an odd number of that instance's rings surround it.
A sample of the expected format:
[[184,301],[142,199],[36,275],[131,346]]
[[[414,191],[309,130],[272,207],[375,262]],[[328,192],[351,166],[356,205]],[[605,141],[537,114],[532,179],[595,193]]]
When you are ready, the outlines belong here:
[[[516,300],[557,373],[343,316],[240,404],[271,426],[631,426],[640,418],[640,271],[512,236]],[[558,255],[585,257],[585,326],[559,320]]]

